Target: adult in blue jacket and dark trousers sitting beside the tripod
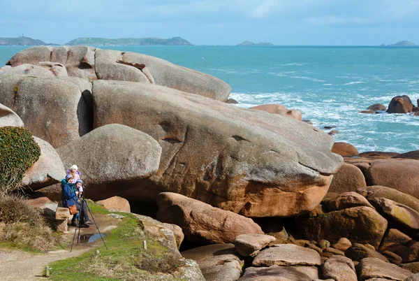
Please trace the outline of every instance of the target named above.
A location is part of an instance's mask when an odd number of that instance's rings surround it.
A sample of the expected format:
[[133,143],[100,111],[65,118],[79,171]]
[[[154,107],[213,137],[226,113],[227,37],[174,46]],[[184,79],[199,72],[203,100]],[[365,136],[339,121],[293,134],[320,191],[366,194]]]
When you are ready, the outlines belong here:
[[77,214],[73,215],[73,219],[71,219],[71,226],[77,226],[75,223],[75,219],[78,219],[80,222],[80,227],[89,227],[91,224],[89,215],[87,215],[87,208],[86,204],[80,204],[78,201],[77,196],[75,196],[75,192],[73,186],[71,185],[73,182],[73,177],[71,175],[66,175],[65,180],[61,180],[61,199],[63,202],[63,206],[68,208],[68,206],[73,206],[77,208]]

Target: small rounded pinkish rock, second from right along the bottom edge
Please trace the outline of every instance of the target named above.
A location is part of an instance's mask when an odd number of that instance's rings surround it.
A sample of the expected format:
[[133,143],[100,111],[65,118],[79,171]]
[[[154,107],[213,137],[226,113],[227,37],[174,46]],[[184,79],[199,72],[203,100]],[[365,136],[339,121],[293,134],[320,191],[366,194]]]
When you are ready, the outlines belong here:
[[353,261],[347,257],[332,256],[321,266],[323,278],[335,281],[358,281]]

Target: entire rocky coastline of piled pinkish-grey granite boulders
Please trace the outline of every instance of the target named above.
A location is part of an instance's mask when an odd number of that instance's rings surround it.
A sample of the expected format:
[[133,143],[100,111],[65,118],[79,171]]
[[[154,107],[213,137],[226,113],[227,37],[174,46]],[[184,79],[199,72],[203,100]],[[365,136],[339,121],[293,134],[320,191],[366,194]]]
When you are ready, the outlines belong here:
[[59,201],[78,164],[89,199],[122,197],[196,261],[184,280],[419,280],[418,151],[359,153],[298,110],[234,106],[230,90],[156,57],[37,46],[0,69],[0,127],[41,147],[27,196]]

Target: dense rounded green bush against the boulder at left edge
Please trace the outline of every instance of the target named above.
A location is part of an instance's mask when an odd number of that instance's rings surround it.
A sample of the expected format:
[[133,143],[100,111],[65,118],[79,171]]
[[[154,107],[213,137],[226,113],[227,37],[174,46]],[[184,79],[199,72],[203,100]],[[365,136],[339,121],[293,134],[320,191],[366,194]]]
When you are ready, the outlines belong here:
[[0,127],[0,192],[15,189],[41,155],[32,134],[21,127]]

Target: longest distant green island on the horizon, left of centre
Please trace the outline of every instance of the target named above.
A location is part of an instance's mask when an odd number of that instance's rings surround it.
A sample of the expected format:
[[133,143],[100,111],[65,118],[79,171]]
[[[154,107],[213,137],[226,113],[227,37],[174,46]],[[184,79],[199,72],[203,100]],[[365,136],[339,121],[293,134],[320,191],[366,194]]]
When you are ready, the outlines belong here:
[[65,45],[193,45],[180,37],[163,38],[77,38]]

